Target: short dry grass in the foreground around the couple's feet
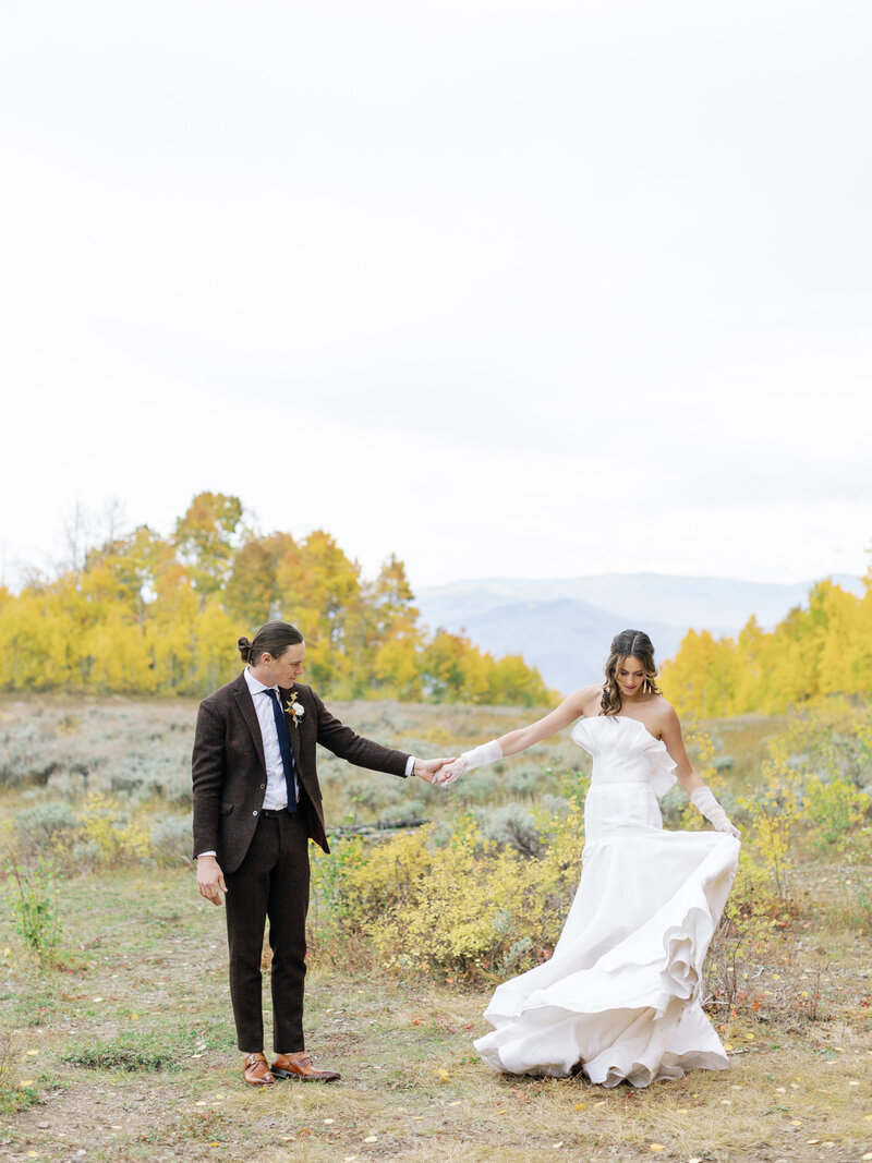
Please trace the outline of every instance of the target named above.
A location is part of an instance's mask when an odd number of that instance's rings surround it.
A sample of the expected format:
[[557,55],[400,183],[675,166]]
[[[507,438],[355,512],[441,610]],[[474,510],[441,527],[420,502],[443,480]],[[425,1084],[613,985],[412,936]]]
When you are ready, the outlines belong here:
[[[766,968],[763,982],[775,987],[767,1020],[737,1018],[722,1030],[734,1047],[729,1072],[644,1091],[498,1077],[472,1047],[485,1028],[485,993],[315,965],[309,1044],[343,1082],[252,1092],[233,1048],[223,919],[195,896],[190,873],[83,877],[69,884],[64,907],[65,970],[41,975],[13,946],[6,957],[0,1015],[15,1030],[12,1069],[17,1082],[33,1079],[41,1103],[8,1122],[3,1158],[84,1150],[94,1161],[528,1163],[535,1153],[731,1163],[853,1161],[872,1150],[862,950],[830,948],[841,959],[822,977],[822,1020],[788,1008],[808,963],[824,963],[815,948],[832,946],[831,935],[803,937],[786,947],[796,964]],[[116,1048],[119,1065],[63,1061],[81,1046]],[[171,1069],[148,1069],[156,1049]],[[122,1050],[140,1053],[143,1069],[124,1069]]]

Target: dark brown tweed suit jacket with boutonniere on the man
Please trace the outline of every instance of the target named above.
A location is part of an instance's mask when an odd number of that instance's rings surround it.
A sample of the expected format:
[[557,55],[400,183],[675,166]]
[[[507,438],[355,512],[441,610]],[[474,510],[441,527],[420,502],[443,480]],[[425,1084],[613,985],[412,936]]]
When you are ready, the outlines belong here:
[[[287,723],[302,785],[299,807],[306,813],[310,839],[329,852],[315,744],[321,743],[359,768],[403,778],[408,755],[357,735],[330,714],[312,687],[296,683],[293,690],[305,711],[296,726],[290,715]],[[284,707],[291,692],[280,688],[280,694]],[[222,871],[235,872],[255,835],[266,794],[260,725],[244,675],[238,675],[200,704],[192,773],[194,856],[215,851]]]

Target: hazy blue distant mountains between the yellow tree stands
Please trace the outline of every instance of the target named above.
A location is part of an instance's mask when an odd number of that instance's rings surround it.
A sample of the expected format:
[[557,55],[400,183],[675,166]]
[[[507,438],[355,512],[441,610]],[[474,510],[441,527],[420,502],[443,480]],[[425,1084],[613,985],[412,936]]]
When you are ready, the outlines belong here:
[[[834,575],[853,593],[862,582]],[[486,578],[419,590],[415,601],[431,629],[463,630],[494,655],[522,654],[549,686],[564,693],[602,678],[619,630],[645,630],[658,662],[678,650],[688,629],[737,634],[751,614],[767,629],[807,602],[814,582],[775,585],[667,573],[600,573],[541,582]]]

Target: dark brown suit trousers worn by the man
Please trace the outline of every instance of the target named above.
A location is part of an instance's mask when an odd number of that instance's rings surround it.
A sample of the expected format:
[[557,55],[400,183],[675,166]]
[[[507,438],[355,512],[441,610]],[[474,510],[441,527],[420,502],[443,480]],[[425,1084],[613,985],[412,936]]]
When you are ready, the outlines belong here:
[[260,957],[269,918],[273,1049],[277,1054],[296,1054],[305,1049],[302,999],[309,905],[305,809],[291,815],[262,815],[245,858],[226,882],[230,999],[237,1044],[246,1054],[264,1048]]

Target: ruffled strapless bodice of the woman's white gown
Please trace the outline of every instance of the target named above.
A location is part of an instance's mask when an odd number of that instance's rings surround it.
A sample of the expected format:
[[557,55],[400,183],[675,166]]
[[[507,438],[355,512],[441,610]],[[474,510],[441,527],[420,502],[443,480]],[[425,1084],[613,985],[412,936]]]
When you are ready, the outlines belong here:
[[591,787],[648,784],[655,795],[665,795],[676,783],[676,763],[666,744],[655,739],[638,719],[628,715],[579,719],[570,736],[593,756]]

